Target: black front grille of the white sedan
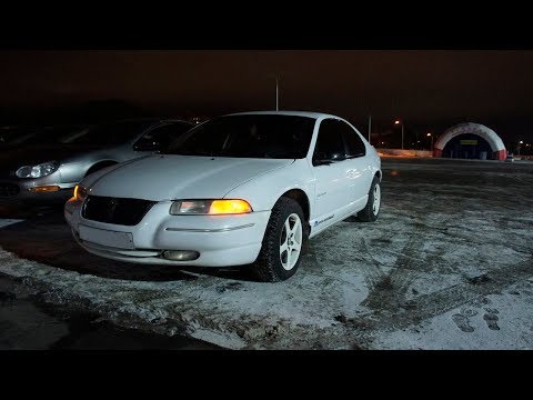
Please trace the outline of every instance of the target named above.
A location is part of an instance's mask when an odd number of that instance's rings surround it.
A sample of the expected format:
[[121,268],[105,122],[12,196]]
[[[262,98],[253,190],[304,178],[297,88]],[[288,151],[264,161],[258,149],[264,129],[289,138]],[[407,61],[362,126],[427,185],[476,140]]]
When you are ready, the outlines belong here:
[[92,221],[135,226],[153,204],[155,202],[149,200],[89,196],[81,214]]

